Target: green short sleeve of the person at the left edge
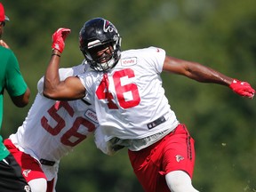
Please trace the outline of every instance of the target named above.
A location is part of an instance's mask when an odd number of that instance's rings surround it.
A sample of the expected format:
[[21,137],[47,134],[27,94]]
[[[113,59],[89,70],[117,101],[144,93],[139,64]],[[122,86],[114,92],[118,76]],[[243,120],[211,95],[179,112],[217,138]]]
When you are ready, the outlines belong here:
[[14,53],[11,51],[5,73],[5,89],[10,96],[20,96],[27,90],[27,84],[20,73],[20,66]]

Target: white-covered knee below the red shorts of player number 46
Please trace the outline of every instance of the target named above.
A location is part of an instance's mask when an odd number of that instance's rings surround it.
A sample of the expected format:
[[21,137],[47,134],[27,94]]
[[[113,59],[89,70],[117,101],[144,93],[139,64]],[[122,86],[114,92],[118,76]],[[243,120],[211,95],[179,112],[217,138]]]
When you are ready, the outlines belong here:
[[165,180],[172,192],[198,192],[192,186],[191,179],[187,172],[174,171],[165,175]]

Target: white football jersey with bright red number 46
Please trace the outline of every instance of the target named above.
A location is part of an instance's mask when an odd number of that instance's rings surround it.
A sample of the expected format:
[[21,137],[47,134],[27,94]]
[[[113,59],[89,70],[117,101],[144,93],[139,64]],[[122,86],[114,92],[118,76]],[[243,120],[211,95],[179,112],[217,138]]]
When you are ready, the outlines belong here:
[[178,120],[164,95],[161,72],[165,52],[149,47],[121,53],[107,72],[79,75],[95,109],[105,140],[137,140],[173,130]]

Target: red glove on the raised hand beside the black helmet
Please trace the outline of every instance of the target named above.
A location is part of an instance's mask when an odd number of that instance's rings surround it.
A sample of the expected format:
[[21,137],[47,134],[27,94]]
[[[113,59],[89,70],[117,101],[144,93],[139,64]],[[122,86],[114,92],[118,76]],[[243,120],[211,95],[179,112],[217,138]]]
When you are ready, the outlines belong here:
[[68,34],[71,32],[69,28],[59,28],[52,35],[52,50],[58,50],[63,52],[65,47],[65,39]]

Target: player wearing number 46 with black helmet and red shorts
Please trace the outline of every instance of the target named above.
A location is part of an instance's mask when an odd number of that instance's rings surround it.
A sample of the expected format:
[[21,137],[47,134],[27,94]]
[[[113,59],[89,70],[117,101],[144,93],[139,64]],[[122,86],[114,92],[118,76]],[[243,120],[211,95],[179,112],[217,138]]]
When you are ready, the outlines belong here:
[[52,59],[44,76],[44,95],[53,100],[88,97],[95,104],[111,149],[128,148],[130,161],[146,192],[196,192],[192,185],[194,140],[164,95],[163,71],[202,83],[224,85],[251,98],[251,85],[196,62],[148,47],[121,52],[121,36],[108,20],[95,18],[80,31],[80,50],[92,70],[65,81],[59,78],[61,52],[70,29],[52,36]]

